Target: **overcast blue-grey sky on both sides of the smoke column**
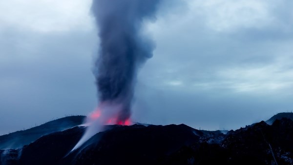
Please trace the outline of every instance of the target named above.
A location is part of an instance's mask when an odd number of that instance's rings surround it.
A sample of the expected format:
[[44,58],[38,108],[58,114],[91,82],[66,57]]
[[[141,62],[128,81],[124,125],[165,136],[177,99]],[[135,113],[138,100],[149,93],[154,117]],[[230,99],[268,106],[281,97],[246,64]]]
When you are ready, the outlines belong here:
[[[91,0],[0,1],[0,134],[97,105]],[[293,109],[292,0],[165,0],[134,121],[237,129]]]

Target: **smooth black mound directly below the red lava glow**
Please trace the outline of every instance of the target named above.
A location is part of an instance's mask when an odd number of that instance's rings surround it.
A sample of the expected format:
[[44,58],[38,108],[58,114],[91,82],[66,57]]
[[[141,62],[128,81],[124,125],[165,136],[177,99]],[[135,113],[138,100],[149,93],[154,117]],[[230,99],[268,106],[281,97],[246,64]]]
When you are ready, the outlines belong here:
[[199,142],[196,133],[202,134],[184,124],[118,126],[93,136],[90,141],[98,141],[72,153],[80,154],[65,164],[151,165],[164,155]]

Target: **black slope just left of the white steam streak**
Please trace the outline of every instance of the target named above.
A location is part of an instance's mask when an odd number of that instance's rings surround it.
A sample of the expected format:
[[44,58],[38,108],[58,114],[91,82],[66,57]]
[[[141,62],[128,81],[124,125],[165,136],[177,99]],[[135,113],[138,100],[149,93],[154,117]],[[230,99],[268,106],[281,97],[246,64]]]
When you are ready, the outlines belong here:
[[56,165],[81,139],[84,127],[73,127],[51,133],[25,145],[19,159],[20,165]]

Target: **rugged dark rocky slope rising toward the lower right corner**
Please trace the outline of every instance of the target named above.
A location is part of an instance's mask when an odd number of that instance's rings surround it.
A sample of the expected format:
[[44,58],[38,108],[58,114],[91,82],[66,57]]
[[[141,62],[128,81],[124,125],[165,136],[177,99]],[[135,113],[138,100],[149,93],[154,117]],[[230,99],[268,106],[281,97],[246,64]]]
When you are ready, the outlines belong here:
[[[202,141],[165,157],[161,165],[293,165],[293,121],[256,123],[229,131],[219,144]],[[216,138],[216,137],[215,137]]]

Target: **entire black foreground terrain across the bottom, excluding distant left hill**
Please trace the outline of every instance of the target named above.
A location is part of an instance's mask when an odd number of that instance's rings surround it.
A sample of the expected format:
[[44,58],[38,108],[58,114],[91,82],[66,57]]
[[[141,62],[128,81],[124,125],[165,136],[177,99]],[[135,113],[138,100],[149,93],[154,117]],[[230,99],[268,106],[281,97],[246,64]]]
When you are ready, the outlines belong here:
[[109,125],[69,153],[85,130],[75,126],[0,150],[0,165],[293,165],[293,121],[271,119],[227,134],[184,124]]

